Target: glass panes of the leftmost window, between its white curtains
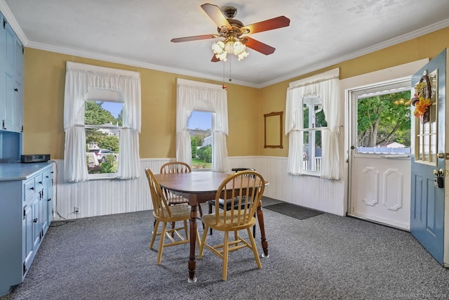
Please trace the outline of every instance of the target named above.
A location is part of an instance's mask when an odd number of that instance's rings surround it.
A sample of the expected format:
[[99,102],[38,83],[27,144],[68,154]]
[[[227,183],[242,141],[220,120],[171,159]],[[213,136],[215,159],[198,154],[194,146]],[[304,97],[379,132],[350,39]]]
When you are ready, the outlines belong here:
[[89,175],[117,172],[122,113],[121,102],[86,101],[84,128]]

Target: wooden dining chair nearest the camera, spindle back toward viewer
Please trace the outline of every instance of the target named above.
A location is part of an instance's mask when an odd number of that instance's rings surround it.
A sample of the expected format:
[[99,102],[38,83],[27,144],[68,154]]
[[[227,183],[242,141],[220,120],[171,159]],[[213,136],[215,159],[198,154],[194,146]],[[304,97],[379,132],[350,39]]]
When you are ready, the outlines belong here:
[[[255,211],[264,193],[264,178],[256,171],[239,171],[229,175],[222,182],[215,194],[215,201],[223,199],[230,201],[230,209],[222,209],[215,205],[215,213],[204,214],[201,218],[205,229],[201,239],[198,258],[203,257],[204,247],[210,249],[223,260],[222,280],[227,280],[227,264],[229,252],[243,247],[253,250],[257,268],[262,268],[255,239],[251,234],[251,227],[255,225]],[[208,229],[220,230],[225,233],[225,241],[222,244],[206,244]],[[248,239],[239,235],[240,230],[246,230]],[[229,232],[234,233],[234,240],[229,240]]]

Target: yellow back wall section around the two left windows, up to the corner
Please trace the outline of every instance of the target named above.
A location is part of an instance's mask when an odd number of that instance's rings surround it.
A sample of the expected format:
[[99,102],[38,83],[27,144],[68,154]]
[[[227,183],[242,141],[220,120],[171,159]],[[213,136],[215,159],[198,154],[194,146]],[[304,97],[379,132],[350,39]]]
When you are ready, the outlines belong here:
[[[64,157],[66,61],[140,72],[142,86],[141,158],[175,157],[176,78],[204,79],[25,48],[23,152]],[[257,155],[257,89],[227,84],[228,155]],[[256,107],[256,109],[255,109]],[[263,141],[262,141],[263,143]],[[263,144],[262,144],[263,145]]]

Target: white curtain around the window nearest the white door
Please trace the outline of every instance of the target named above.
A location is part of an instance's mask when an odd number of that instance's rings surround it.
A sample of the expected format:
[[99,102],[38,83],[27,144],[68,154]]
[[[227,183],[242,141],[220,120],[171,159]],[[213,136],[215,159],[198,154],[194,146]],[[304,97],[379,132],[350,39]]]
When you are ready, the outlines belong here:
[[286,134],[289,136],[288,173],[303,174],[302,98],[321,98],[328,129],[323,129],[321,178],[340,179],[340,79],[338,69],[290,84],[286,99]]

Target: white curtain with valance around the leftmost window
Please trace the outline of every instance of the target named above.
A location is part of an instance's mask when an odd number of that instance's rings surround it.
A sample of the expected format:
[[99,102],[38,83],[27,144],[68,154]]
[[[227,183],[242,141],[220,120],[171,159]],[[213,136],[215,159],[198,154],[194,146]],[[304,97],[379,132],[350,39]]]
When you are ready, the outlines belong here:
[[88,180],[84,103],[91,89],[119,91],[123,96],[123,126],[120,131],[117,177],[138,178],[140,73],[67,62],[64,96],[65,181]]

